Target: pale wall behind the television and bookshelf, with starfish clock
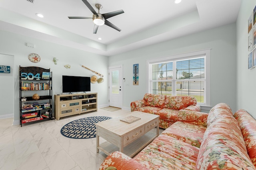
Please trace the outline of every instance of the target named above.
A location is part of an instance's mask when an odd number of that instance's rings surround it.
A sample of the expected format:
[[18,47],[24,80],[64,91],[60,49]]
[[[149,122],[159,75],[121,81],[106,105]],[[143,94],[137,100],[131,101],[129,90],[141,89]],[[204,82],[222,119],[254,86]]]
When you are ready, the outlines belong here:
[[[0,53],[14,55],[14,124],[19,122],[19,66],[39,66],[50,68],[52,71],[53,94],[62,93],[62,75],[71,76],[92,76],[96,75],[82,65],[100,72],[105,81],[101,84],[91,84],[91,92],[98,92],[98,106],[108,106],[108,57],[88,53],[62,45],[41,41],[23,35],[17,35],[7,31],[0,31]],[[27,47],[26,43],[32,43],[35,48]],[[28,60],[30,53],[37,53],[41,57],[39,63],[32,63]],[[52,62],[56,57],[58,64]],[[65,64],[71,68],[66,69]]]

